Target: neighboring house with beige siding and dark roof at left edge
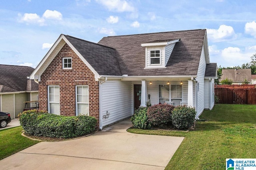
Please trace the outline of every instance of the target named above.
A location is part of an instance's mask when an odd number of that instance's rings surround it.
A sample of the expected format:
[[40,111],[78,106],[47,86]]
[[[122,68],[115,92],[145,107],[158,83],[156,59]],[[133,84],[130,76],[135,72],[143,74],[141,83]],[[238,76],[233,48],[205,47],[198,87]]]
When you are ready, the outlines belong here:
[[0,64],[0,111],[10,113],[12,119],[23,111],[24,102],[37,100],[38,84],[27,78],[33,71],[28,66]]

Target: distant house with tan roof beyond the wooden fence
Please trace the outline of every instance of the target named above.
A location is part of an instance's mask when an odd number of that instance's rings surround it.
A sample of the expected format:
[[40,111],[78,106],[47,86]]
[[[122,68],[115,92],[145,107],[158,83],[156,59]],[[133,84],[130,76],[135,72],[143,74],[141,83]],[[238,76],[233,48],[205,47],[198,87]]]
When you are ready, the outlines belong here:
[[223,69],[222,76],[220,78],[220,82],[228,78],[232,80],[232,84],[242,84],[245,80],[248,81],[250,84],[252,83],[252,75],[251,69]]

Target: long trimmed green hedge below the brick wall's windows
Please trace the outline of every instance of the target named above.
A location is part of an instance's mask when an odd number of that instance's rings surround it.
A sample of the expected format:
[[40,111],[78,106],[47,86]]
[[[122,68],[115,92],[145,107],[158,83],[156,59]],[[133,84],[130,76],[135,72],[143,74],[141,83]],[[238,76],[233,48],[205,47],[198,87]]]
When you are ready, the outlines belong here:
[[69,138],[94,131],[97,119],[88,115],[62,116],[46,111],[28,110],[18,115],[20,125],[29,135]]

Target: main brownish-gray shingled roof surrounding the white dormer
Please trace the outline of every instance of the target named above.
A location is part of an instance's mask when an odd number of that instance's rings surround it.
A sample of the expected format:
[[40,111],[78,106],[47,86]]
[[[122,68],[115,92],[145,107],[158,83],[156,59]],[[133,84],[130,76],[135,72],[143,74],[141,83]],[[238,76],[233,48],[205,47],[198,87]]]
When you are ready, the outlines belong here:
[[[117,60],[119,61],[121,74],[117,69],[113,69],[113,71],[116,70],[116,72],[114,72],[115,75],[197,75],[205,33],[206,29],[197,29],[188,31],[112,36],[102,38],[98,44],[112,47],[118,51]],[[144,69],[145,47],[141,47],[141,43],[167,39],[180,39],[180,42],[176,43],[166,68]],[[102,59],[98,59],[97,61],[101,60]],[[117,60],[114,59],[113,62],[116,63]],[[114,65],[115,64],[112,64],[110,67],[113,67]]]

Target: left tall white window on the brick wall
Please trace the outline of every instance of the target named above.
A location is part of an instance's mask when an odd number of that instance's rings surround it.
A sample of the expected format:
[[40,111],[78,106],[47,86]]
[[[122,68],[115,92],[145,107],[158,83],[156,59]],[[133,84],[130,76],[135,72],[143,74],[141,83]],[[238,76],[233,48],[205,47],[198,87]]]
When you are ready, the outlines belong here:
[[48,112],[60,115],[60,86],[48,86]]

